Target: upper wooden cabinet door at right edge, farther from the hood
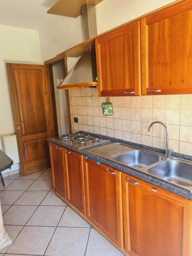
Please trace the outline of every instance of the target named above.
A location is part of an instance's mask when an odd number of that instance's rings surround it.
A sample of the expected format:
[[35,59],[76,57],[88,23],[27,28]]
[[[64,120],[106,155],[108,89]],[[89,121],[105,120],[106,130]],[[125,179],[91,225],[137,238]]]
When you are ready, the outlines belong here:
[[142,95],[192,93],[192,1],[141,19]]

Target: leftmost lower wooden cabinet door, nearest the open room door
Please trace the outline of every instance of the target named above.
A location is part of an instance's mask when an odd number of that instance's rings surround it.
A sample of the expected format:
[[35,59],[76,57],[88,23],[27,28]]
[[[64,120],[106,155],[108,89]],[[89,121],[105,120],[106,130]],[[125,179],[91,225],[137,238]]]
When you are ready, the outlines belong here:
[[56,144],[49,143],[51,171],[53,178],[53,188],[62,198],[66,199],[66,179],[65,164],[63,159],[64,148]]

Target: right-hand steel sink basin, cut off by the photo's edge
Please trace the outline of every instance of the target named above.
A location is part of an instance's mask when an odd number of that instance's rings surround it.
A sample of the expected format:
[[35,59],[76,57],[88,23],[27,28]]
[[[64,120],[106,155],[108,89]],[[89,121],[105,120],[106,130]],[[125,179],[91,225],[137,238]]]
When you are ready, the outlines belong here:
[[182,186],[192,186],[192,164],[168,160],[149,168],[147,172]]

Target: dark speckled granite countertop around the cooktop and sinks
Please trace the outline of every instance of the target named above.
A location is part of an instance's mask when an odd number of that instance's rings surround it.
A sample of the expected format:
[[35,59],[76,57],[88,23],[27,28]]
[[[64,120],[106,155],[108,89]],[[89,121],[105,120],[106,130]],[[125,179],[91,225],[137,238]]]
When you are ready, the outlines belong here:
[[[90,133],[86,133],[86,134],[90,134]],[[94,136],[94,134],[91,134],[91,135]],[[98,135],[95,135],[95,136],[98,136]],[[123,143],[123,144],[126,144],[126,145],[135,146],[135,147],[138,147],[138,148],[143,148],[145,150],[154,151],[156,153],[161,153],[161,154],[165,153],[164,150],[160,150],[158,148],[154,148],[154,147],[150,147],[150,146],[145,146],[145,145],[141,145],[141,144],[137,144],[137,143],[132,143],[132,142],[128,142],[128,141],[118,140],[118,139],[114,139],[114,138],[107,137],[107,136],[102,136],[102,138],[103,139],[111,140],[112,142],[120,142],[120,143]],[[179,196],[182,196],[184,198],[192,200],[192,191],[190,191],[188,189],[185,189],[185,188],[182,188],[182,187],[179,187],[179,186],[174,185],[172,183],[166,182],[166,181],[161,180],[159,178],[156,178],[154,176],[151,176],[150,174],[142,173],[139,170],[136,170],[136,169],[131,168],[129,166],[125,166],[123,164],[114,162],[113,160],[109,160],[109,159],[106,159],[104,157],[97,156],[97,155],[87,151],[88,148],[81,148],[79,150],[78,148],[75,148],[75,147],[73,147],[71,145],[68,145],[68,144],[64,144],[62,142],[56,141],[56,140],[51,139],[51,138],[49,138],[48,141],[50,141],[52,143],[55,143],[55,144],[57,144],[59,146],[65,147],[68,150],[72,150],[74,152],[77,152],[77,153],[79,153],[79,154],[81,154],[83,156],[87,156],[88,158],[90,158],[90,159],[92,159],[94,161],[99,161],[100,163],[104,163],[106,165],[109,165],[109,166],[111,166],[111,167],[113,167],[115,169],[120,170],[123,173],[130,174],[130,175],[132,175],[134,177],[137,177],[137,178],[139,178],[141,180],[144,180],[144,181],[150,182],[151,184],[154,184],[156,186],[162,187],[162,188],[164,188],[164,189],[166,189],[168,191],[171,191],[171,192],[173,192],[173,193],[175,193],[175,194],[177,194]],[[103,146],[103,144],[100,145],[100,146]],[[91,147],[89,147],[89,149],[90,148]],[[192,157],[185,156],[185,155],[178,154],[178,153],[173,153],[173,156],[181,158],[183,160],[190,160],[190,161],[192,160]]]

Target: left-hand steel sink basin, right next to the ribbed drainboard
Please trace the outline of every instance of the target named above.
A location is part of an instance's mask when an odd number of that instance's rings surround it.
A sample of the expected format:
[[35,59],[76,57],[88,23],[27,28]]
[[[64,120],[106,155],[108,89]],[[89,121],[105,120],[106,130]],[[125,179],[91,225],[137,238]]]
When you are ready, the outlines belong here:
[[145,167],[153,163],[163,160],[162,156],[155,155],[153,153],[148,153],[141,150],[133,150],[111,159],[120,162],[122,164],[128,165],[130,167]]

